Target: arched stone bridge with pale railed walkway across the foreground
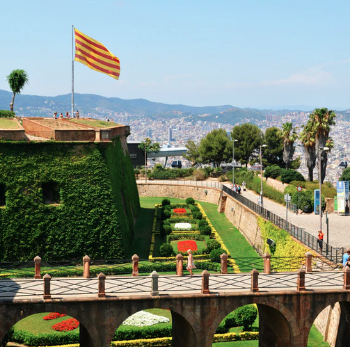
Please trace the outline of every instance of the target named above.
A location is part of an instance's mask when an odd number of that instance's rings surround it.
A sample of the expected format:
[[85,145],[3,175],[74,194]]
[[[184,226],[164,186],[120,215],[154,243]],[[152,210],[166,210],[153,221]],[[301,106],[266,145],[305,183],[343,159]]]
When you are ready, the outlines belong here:
[[80,346],[109,347],[127,317],[162,308],[170,309],[173,317],[173,347],[209,347],[225,316],[237,307],[256,304],[259,346],[306,347],[315,318],[336,302],[341,307],[336,346],[349,346],[350,268],[0,280],[0,343],[22,318],[60,312],[79,320]]

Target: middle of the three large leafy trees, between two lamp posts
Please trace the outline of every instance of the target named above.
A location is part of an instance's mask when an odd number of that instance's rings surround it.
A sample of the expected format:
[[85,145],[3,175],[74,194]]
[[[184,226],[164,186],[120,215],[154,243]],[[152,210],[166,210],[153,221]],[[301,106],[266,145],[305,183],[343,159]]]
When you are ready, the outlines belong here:
[[259,157],[258,149],[262,144],[262,131],[253,124],[244,123],[236,125],[231,132],[234,140],[238,140],[234,145],[234,158],[241,164],[256,161]]

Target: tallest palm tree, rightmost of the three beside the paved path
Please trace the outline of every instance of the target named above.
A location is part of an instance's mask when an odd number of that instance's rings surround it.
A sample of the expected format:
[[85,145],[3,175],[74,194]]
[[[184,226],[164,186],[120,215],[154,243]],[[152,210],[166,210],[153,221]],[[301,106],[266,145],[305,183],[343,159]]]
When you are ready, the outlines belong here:
[[[312,121],[312,127],[315,131],[316,151],[319,152],[320,148],[323,148],[328,143],[329,133],[331,126],[335,124],[334,111],[328,110],[328,108],[316,108],[314,112],[310,114],[310,120]],[[328,143],[328,144],[331,144]],[[328,147],[328,146],[327,146]],[[321,153],[321,184],[324,183],[324,177],[326,177],[326,167],[328,154],[326,151]]]

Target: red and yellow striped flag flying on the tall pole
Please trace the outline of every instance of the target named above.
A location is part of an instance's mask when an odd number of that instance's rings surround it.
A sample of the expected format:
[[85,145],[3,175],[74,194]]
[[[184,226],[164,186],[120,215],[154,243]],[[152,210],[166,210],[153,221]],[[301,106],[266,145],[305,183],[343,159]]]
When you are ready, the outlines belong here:
[[74,28],[75,33],[75,61],[90,67],[90,69],[108,74],[113,79],[119,79],[119,58],[102,45]]

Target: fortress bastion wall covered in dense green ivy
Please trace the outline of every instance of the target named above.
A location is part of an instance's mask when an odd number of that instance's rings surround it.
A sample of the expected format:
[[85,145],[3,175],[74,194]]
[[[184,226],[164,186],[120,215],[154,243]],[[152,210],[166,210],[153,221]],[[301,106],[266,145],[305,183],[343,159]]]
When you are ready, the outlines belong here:
[[[60,202],[45,204],[53,181]],[[113,143],[1,142],[0,260],[117,259],[140,209],[134,170]]]

